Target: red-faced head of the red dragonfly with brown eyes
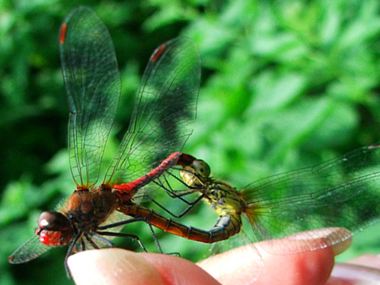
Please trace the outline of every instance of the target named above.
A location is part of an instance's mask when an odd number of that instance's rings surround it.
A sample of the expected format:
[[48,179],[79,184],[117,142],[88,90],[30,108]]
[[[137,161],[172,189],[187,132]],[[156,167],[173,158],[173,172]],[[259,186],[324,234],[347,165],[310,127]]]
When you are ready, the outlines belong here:
[[72,240],[74,228],[63,213],[46,211],[40,215],[35,233],[45,245],[64,246]]

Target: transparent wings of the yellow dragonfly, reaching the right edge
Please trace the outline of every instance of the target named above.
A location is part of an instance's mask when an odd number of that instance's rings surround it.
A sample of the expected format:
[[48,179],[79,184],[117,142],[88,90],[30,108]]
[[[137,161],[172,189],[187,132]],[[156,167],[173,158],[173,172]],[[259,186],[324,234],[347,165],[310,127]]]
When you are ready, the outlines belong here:
[[[290,252],[304,252],[346,240],[380,219],[380,147],[371,145],[314,167],[275,175],[241,190],[247,216],[257,240],[282,238],[300,231],[344,227],[351,232],[322,233],[316,243],[294,240]],[[292,238],[292,237],[290,237]],[[265,250],[284,253],[278,242],[265,243]]]

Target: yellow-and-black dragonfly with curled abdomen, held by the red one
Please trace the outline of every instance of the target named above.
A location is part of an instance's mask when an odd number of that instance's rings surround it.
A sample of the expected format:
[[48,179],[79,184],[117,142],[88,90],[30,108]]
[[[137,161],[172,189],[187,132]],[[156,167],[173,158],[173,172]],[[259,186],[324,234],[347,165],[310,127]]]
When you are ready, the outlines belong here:
[[[365,146],[312,167],[301,168],[257,180],[238,190],[210,176],[209,165],[190,154],[181,153],[177,166],[185,190],[175,190],[166,182],[172,197],[199,193],[182,217],[200,200],[219,215],[209,230],[180,224],[149,209],[136,206],[133,217],[145,217],[151,225],[184,238],[213,243],[241,232],[245,216],[256,241],[271,254],[293,254],[326,248],[347,240],[380,220],[380,144]],[[161,183],[163,186],[164,183]],[[159,204],[158,204],[159,205]],[[159,205],[160,206],[160,205]],[[342,227],[348,231],[333,232]],[[310,230],[322,229],[325,238],[315,242]],[[305,231],[297,242],[273,242],[292,238]]]

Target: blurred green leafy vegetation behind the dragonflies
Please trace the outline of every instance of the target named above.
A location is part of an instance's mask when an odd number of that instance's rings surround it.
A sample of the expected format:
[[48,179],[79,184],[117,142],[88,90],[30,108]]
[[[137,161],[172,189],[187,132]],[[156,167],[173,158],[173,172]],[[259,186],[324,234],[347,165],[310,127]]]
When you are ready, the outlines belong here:
[[[2,284],[72,283],[64,249],[19,266],[7,257],[33,234],[41,211],[74,188],[57,34],[79,4],[105,22],[122,72],[110,153],[150,53],[178,35],[197,42],[203,68],[184,151],[208,161],[215,177],[239,188],[380,141],[378,1],[0,1]],[[209,228],[214,219],[199,207],[183,221]],[[379,251],[375,227],[355,236],[351,254]],[[208,247],[157,234],[164,251],[194,261]]]

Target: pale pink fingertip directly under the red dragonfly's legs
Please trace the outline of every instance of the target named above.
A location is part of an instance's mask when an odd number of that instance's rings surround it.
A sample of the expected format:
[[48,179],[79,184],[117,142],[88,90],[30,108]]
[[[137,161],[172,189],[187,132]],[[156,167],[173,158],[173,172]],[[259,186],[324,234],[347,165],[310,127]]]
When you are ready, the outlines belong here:
[[123,249],[85,251],[67,260],[76,284],[219,284],[187,260]]

